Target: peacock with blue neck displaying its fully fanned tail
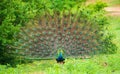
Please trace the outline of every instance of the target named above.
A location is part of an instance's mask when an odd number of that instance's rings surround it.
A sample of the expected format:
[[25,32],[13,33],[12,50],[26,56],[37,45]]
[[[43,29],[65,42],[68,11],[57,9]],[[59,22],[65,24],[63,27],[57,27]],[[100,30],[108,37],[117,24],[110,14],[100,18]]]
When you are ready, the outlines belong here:
[[58,54],[57,62],[69,57],[87,58],[102,49],[99,27],[79,13],[45,13],[21,28],[12,47],[25,58],[48,59]]

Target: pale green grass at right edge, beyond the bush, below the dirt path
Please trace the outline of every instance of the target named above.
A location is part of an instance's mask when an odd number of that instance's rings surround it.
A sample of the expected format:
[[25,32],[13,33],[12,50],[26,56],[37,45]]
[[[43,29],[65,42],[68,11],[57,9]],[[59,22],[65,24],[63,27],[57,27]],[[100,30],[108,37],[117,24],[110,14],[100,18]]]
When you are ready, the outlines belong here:
[[108,31],[114,34],[114,39],[112,40],[118,47],[117,52],[120,53],[120,17],[111,16],[109,17],[110,25],[108,26]]

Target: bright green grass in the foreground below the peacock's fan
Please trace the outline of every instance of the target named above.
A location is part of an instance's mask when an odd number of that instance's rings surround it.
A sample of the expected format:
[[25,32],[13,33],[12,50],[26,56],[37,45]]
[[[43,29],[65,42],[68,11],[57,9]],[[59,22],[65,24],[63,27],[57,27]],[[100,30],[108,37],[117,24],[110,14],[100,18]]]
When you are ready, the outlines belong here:
[[34,61],[12,68],[0,66],[0,74],[119,74],[120,54],[99,55],[91,59],[66,59],[65,64],[55,60]]

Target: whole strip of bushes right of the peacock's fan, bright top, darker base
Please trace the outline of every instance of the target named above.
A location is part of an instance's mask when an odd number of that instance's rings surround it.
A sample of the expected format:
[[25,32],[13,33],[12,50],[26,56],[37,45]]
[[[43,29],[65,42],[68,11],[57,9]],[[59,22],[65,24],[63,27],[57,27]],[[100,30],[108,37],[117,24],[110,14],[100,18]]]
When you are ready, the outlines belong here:
[[[96,28],[96,25],[99,27],[97,30],[102,37],[102,42],[100,44],[101,47],[101,53],[115,53],[117,50],[116,44],[112,42],[113,38],[115,38],[115,34],[111,34],[108,32],[107,27],[110,25],[110,21],[106,17],[106,13],[104,11],[104,7],[107,5],[102,2],[97,2],[95,4],[90,4],[86,7],[83,7],[81,9],[82,16],[84,18],[87,18],[91,23],[94,24],[94,28]],[[92,27],[92,26],[91,26]]]

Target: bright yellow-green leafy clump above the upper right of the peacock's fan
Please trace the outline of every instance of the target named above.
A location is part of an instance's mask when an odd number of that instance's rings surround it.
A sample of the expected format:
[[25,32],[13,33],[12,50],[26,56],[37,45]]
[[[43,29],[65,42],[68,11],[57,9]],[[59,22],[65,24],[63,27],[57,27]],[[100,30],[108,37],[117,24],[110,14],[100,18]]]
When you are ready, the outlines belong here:
[[104,11],[106,6],[107,5],[103,2],[82,6],[80,8],[81,17],[89,20],[93,24],[102,25],[101,27],[104,27],[104,25],[108,24]]

